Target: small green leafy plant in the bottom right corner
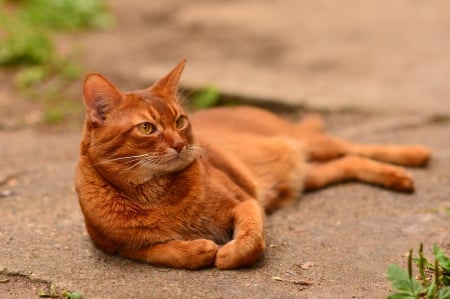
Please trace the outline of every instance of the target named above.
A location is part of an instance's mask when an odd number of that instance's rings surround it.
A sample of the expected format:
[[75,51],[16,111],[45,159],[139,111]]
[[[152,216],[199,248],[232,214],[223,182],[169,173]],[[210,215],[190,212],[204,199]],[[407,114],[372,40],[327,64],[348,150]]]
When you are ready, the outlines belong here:
[[[450,258],[438,247],[433,247],[434,263],[430,263],[423,255],[423,244],[420,244],[417,258],[412,257],[412,249],[408,256],[408,270],[397,265],[390,265],[387,270],[388,279],[395,293],[388,299],[450,299]],[[413,275],[413,262],[418,274]]]

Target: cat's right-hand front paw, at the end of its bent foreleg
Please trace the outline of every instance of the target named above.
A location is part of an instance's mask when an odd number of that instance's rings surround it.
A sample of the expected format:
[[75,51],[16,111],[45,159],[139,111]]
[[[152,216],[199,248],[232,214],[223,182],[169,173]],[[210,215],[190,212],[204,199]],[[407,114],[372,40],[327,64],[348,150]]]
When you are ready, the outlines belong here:
[[214,266],[220,270],[237,269],[253,265],[258,257],[264,252],[265,243],[263,239],[233,240],[219,249]]

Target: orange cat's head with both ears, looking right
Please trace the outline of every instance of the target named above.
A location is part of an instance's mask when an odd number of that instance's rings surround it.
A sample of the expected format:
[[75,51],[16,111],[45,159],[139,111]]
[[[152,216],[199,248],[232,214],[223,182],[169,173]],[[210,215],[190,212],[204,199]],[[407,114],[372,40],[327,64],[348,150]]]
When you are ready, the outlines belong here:
[[199,155],[177,97],[182,60],[147,89],[121,92],[99,74],[84,81],[86,129],[82,154],[102,175],[134,184],[176,172]]

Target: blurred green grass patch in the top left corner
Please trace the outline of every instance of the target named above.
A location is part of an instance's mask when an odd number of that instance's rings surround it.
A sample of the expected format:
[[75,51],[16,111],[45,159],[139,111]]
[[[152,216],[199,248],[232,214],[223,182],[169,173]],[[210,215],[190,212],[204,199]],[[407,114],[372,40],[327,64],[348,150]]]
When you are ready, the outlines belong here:
[[15,87],[42,103],[44,122],[59,123],[81,110],[74,85],[83,69],[73,53],[57,52],[55,35],[112,24],[101,0],[0,0],[0,68],[13,69]]

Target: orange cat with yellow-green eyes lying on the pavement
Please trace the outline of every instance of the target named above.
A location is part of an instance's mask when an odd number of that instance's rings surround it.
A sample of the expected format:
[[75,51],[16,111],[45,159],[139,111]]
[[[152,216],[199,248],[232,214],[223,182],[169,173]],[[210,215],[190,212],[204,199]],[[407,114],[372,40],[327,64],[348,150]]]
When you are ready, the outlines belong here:
[[107,253],[157,266],[236,269],[265,249],[265,212],[303,191],[358,180],[412,192],[419,145],[363,145],[327,136],[315,116],[290,123],[255,107],[188,116],[182,60],[147,89],[121,92],[86,76],[76,190],[87,231]]

